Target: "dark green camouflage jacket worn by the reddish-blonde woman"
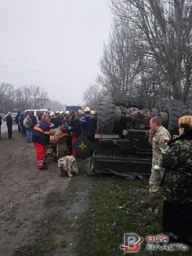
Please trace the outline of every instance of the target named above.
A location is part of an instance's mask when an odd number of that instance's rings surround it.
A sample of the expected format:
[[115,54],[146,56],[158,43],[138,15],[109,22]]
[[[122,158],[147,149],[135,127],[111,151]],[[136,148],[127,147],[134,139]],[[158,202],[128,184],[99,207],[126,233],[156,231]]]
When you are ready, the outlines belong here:
[[160,163],[166,168],[164,199],[173,203],[192,202],[192,140],[178,137],[162,154]]

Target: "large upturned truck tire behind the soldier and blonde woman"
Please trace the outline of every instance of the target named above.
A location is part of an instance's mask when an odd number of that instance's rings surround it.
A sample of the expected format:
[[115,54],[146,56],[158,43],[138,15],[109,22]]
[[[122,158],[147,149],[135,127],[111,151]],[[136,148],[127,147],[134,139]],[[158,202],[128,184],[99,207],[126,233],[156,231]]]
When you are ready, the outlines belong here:
[[171,136],[179,134],[178,121],[181,116],[188,116],[187,105],[180,100],[171,100],[164,108],[168,114],[168,124],[165,126]]

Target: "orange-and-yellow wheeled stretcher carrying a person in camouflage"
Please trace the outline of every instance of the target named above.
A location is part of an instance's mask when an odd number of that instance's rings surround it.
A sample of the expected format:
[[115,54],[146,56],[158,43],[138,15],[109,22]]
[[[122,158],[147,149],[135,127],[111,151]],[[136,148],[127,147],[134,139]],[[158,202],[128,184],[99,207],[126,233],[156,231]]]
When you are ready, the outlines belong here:
[[53,135],[50,136],[50,148],[46,150],[46,158],[47,156],[54,156],[54,162],[56,162],[57,157],[59,155],[59,147],[60,145],[64,144],[66,148],[67,154],[69,153],[68,146],[66,145],[66,138],[68,138],[69,134],[68,133],[62,133],[60,134],[56,140],[51,140],[53,138]]

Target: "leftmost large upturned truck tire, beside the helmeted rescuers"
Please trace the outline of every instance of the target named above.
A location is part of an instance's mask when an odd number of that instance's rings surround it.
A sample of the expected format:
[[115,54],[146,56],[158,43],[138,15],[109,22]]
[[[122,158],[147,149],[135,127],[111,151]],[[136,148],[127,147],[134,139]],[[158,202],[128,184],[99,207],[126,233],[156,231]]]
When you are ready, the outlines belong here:
[[100,98],[98,107],[97,130],[99,134],[112,134],[115,119],[115,100],[112,93]]

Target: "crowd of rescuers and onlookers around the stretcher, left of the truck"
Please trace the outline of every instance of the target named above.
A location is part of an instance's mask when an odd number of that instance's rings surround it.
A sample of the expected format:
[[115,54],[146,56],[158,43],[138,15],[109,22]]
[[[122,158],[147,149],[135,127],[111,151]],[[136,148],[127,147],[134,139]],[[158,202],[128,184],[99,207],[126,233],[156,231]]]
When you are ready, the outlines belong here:
[[[74,157],[78,157],[76,151],[72,148],[72,144],[83,133],[90,142],[94,142],[94,134],[97,126],[97,113],[89,107],[79,109],[76,113],[69,111],[56,111],[55,113],[50,111],[48,114],[44,114],[44,111],[40,112],[38,120],[34,113],[31,116],[25,112],[18,112],[15,117],[15,122],[18,125],[18,132],[23,138],[26,138],[27,143],[34,142],[37,152],[38,169],[47,169],[45,161],[45,150],[50,148],[50,130],[57,129],[62,126],[69,132],[67,145],[69,149],[68,154],[72,154]],[[11,112],[6,117],[6,123],[8,128],[8,138],[12,137],[12,117]]]

